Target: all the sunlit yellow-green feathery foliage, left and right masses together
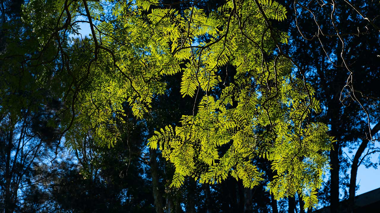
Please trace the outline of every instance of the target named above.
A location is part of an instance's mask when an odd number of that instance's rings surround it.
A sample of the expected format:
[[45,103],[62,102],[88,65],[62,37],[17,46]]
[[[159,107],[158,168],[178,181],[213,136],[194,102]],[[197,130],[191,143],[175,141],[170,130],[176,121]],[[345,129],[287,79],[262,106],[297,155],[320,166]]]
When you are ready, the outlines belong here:
[[[91,59],[92,52],[75,59],[72,75],[84,80],[73,85],[78,94],[68,111],[75,115],[68,145],[77,148],[76,140],[90,131],[100,146],[113,146],[123,103],[142,118],[153,94],[165,91],[161,77],[182,72],[183,96],[198,90],[205,95],[195,114],[182,116],[182,125],[168,125],[149,139],[175,166],[172,186],[182,185],[185,176],[220,183],[231,175],[252,188],[263,180],[255,159],[265,158],[275,173],[268,184],[275,198],[298,192],[306,208],[317,204],[331,138],[326,125],[308,120],[319,111],[313,89],[291,75],[292,63],[275,49],[287,35],[265,19],[285,19],[285,8],[272,0],[230,0],[206,15],[195,7],[179,13],[154,4],[117,3],[117,26],[101,22],[96,31],[103,33],[92,35],[98,59]],[[84,41],[82,47],[94,45]],[[236,69],[230,84],[220,77],[227,64]],[[215,95],[215,88],[222,92]],[[66,118],[63,127],[69,123]]]

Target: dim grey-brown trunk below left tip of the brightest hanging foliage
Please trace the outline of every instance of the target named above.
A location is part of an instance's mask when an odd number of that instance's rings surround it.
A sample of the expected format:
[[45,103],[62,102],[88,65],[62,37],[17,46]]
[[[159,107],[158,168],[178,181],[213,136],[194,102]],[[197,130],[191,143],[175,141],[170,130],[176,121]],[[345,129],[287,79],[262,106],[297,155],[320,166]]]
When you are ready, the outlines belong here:
[[156,208],[156,213],[164,213],[162,194],[158,188],[159,178],[158,178],[156,151],[153,149],[149,149],[149,155],[150,155],[150,174],[152,175],[154,207]]

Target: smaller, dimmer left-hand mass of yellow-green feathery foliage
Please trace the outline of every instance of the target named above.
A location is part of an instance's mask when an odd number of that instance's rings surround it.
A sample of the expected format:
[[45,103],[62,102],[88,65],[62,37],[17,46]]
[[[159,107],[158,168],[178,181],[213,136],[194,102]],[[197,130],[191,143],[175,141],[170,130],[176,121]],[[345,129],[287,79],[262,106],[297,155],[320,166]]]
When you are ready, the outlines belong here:
[[[153,94],[165,91],[160,77],[180,72],[180,62],[169,46],[171,37],[162,36],[168,29],[149,23],[138,8],[123,2],[115,7],[114,14],[118,28],[106,22],[95,27],[98,59],[91,62],[83,57],[85,54],[72,57],[76,60],[73,64],[78,64],[73,70],[76,77],[85,82],[78,89],[74,112],[67,111],[76,115],[73,127],[65,135],[68,148],[80,148],[76,141],[89,131],[100,146],[113,146],[120,138],[117,123],[123,123],[126,116],[123,103],[127,101],[133,114],[142,118]],[[94,43],[86,40],[79,46],[93,48]],[[63,127],[69,126],[70,113]]]

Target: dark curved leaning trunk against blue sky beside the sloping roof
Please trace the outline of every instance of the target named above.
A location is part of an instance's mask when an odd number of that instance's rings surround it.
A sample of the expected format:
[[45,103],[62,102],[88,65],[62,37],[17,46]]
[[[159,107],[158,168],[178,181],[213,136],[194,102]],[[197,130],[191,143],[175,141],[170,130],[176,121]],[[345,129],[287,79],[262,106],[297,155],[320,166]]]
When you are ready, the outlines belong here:
[[[380,122],[378,122],[374,128],[371,130],[371,134],[375,134],[380,130]],[[348,188],[348,213],[353,213],[355,207],[355,191],[356,191],[356,175],[358,174],[359,168],[359,160],[361,155],[363,155],[364,150],[366,149],[369,140],[363,139],[360,144],[358,150],[356,150],[355,157],[352,161],[351,165],[351,177],[350,177],[350,185]]]

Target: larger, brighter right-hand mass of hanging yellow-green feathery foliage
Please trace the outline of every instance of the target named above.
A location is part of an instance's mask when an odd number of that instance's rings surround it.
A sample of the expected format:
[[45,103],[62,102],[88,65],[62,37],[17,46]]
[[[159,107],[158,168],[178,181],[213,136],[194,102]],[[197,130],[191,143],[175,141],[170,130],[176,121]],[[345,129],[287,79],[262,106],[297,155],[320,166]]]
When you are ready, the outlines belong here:
[[[259,3],[269,19],[285,19],[277,2]],[[185,19],[193,17],[191,10]],[[319,111],[313,89],[291,75],[293,65],[286,57],[273,54],[274,41],[254,1],[229,1],[209,17],[196,13],[196,21],[182,26],[185,22],[179,21],[179,29],[173,29],[189,38],[171,47],[178,60],[186,60],[181,93],[212,92],[220,86],[218,69],[227,63],[236,74],[219,99],[203,96],[194,116],[183,116],[182,125],[167,126],[149,139],[148,145],[159,147],[176,168],[171,186],[182,185],[184,176],[220,183],[231,175],[252,188],[263,180],[255,159],[265,158],[277,174],[268,184],[276,199],[301,193],[305,208],[312,207],[328,163],[323,151],[332,140],[326,125],[307,122],[312,110]],[[188,48],[201,34],[211,39]],[[287,41],[283,33],[272,36]]]

